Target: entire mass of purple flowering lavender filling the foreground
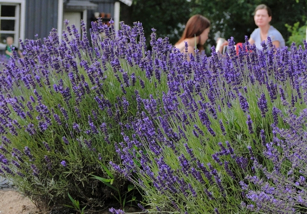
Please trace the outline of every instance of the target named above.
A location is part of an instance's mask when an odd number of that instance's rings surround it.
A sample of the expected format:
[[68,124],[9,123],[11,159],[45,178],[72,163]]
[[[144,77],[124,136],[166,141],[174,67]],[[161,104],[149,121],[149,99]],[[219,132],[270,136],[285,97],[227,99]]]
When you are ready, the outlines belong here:
[[141,23],[66,24],[0,72],[0,175],[39,206],[307,212],[306,41],[187,61]]

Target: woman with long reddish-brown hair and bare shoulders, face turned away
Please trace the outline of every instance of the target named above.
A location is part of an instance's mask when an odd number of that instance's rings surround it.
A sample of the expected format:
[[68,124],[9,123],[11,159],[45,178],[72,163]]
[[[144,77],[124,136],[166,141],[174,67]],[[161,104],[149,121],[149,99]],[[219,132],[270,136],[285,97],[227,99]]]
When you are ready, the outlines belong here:
[[175,44],[181,52],[185,52],[185,43],[188,45],[188,55],[194,54],[195,45],[196,49],[200,52],[204,50],[204,44],[208,39],[210,31],[210,21],[202,15],[193,15],[188,20],[184,32]]

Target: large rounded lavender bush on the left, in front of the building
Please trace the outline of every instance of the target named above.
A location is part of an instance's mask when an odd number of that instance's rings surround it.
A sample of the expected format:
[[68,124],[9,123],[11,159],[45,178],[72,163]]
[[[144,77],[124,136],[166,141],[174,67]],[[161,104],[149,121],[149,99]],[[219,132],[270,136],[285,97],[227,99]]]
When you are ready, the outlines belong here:
[[92,24],[90,46],[84,23],[82,35],[66,24],[62,40],[53,29],[43,43],[20,41],[25,57],[3,63],[0,174],[42,206],[68,204],[69,194],[93,211],[134,197],[109,165],[120,163],[113,142],[129,132],[122,124],[138,117],[143,99],[167,91],[171,46],[157,41],[152,58],[140,23],[115,32],[101,20]]

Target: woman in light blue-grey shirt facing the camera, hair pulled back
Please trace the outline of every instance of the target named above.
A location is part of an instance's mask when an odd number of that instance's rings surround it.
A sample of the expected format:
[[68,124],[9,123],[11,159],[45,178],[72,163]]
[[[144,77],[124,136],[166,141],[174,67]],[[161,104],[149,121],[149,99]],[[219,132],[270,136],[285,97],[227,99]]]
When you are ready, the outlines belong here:
[[271,38],[275,48],[285,47],[284,39],[280,32],[270,25],[272,11],[266,5],[258,5],[255,9],[254,20],[257,29],[255,29],[249,39],[250,44],[255,44],[257,49],[262,50],[261,42],[267,41],[268,36]]

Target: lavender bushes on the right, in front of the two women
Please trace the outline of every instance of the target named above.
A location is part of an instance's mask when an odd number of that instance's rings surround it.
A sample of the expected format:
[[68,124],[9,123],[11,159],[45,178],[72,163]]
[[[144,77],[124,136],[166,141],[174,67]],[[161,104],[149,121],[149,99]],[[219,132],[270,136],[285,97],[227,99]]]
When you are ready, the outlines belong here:
[[247,40],[238,56],[230,40],[224,58],[213,48],[172,59],[156,111],[129,123],[135,136],[122,133],[122,166],[112,164],[144,190],[149,211],[307,211],[307,44],[275,51],[269,40],[257,51]]

